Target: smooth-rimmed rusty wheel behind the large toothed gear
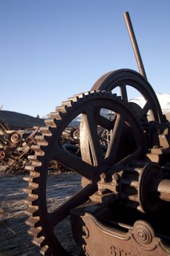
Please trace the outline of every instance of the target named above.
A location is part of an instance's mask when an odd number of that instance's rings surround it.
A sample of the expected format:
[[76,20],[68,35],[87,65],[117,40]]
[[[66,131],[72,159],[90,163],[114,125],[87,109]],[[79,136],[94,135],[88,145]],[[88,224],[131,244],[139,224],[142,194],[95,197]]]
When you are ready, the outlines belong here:
[[[120,88],[122,99],[129,104],[127,86],[133,87],[144,97],[146,102],[142,108],[142,113],[147,116],[150,110],[150,120],[157,121],[158,124],[163,124],[165,117],[163,116],[155,91],[152,89],[150,83],[134,70],[117,69],[116,71],[107,72],[94,83],[91,90],[112,91],[116,88]],[[135,108],[137,104],[131,102],[130,105],[132,108]],[[136,108],[138,108],[138,106]]]

